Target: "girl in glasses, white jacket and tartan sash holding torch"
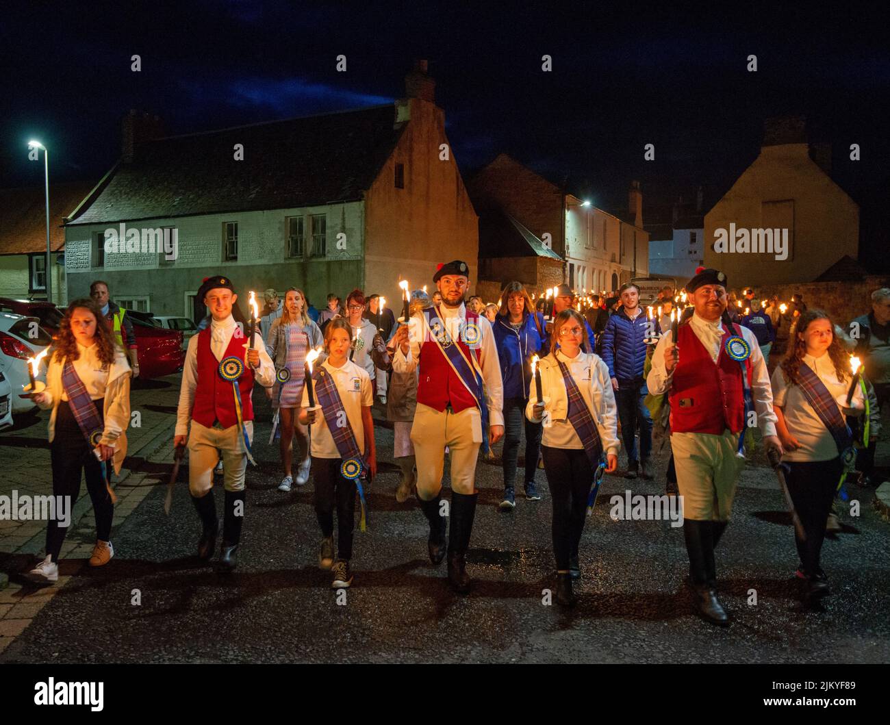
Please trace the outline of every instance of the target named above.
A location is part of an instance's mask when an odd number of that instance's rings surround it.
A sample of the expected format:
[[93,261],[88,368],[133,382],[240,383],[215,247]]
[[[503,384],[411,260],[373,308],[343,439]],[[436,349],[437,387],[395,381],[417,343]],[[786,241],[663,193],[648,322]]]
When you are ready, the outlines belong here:
[[[554,319],[550,354],[535,371],[525,415],[544,425],[541,451],[553,499],[556,601],[573,607],[572,579],[581,576],[578,544],[595,476],[618,467],[618,414],[609,367],[587,342],[584,318],[562,310]],[[603,454],[608,464],[603,463]]]

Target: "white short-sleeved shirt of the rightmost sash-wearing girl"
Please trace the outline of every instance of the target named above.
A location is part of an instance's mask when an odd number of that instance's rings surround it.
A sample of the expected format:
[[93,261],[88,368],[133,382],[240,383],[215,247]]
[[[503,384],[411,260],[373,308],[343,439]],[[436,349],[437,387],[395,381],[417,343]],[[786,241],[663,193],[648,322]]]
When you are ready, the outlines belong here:
[[[837,379],[834,363],[831,362],[831,357],[827,353],[823,353],[819,358],[805,355],[804,362],[829,389],[838,404],[846,407],[846,392],[849,390],[851,382],[849,375],[846,383],[841,383]],[[789,451],[782,456],[783,461],[830,461],[837,458],[837,445],[831,438],[829,429],[816,415],[803,388],[793,383],[786,383],[781,366],[773,370],[773,396],[773,405],[781,407],[789,433],[800,443],[800,447],[796,451]],[[862,400],[862,388],[859,385],[856,385],[856,391],[849,407],[861,409],[865,407]]]

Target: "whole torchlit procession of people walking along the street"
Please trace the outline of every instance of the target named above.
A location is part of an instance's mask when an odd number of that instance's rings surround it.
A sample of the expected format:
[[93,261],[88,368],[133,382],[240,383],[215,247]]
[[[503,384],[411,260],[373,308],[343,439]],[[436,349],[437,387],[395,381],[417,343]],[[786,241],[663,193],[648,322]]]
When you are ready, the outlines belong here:
[[[736,294],[713,269],[700,268],[685,286],[683,314],[675,309],[678,290],[661,290],[654,320],[632,283],[578,305],[569,285],[536,303],[522,283],[511,282],[498,303],[486,304],[466,299],[470,278],[466,262],[439,265],[433,294],[409,294],[407,319],[396,319],[379,294],[360,289],[344,302],[328,294],[320,311],[300,289],[287,289],[283,300],[269,289],[258,329],[239,312],[231,278],[204,280],[198,298],[209,315],[189,342],[174,431],[174,448],[189,454],[201,560],[214,556],[221,537],[217,566],[238,565],[259,384],[274,411],[270,442],[279,437],[279,490],[312,478],[319,566],[331,571],[337,589],[353,581],[356,516],[360,528],[367,522],[377,404],[392,422],[392,457],[401,469],[396,499],[417,497],[429,559],[436,565],[447,559],[457,592],[471,584],[465,556],[480,452],[489,454],[503,439],[503,512],[516,506],[523,438],[522,494],[529,504],[542,498],[535,476],[543,464],[555,600],[571,607],[572,582],[582,576],[581,534],[599,480],[617,474],[622,444],[622,475],[653,479],[653,430],[664,431],[671,448],[667,494],[683,496],[693,601],[707,621],[727,624],[715,551],[756,425],[767,454],[781,456],[801,524],[797,576],[805,602],[819,605],[829,593],[821,543],[840,483],[857,466],[861,483],[877,482],[880,408],[890,397],[890,289],[874,292],[871,311],[843,328],[825,312],[807,310],[800,295],[786,306],[777,298],[758,300],[750,288]],[[788,350],[771,376],[767,364],[783,327]],[[851,351],[863,358],[864,374],[851,372]],[[110,476],[125,456],[130,380],[138,370],[125,310],[97,281],[90,299],[69,304],[45,389],[30,391],[38,406],[52,410],[53,494],[76,496],[85,474],[96,519],[93,567],[114,555]],[[449,506],[441,492],[446,455]],[[222,531],[213,485],[221,465]],[[64,536],[57,522],[47,527],[45,558],[29,572],[32,580],[57,580]]]

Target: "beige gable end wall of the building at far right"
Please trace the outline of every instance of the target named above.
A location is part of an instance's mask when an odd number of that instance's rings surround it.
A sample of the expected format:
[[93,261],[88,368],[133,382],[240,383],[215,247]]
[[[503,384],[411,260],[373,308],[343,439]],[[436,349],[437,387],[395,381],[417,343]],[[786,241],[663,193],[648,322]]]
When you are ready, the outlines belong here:
[[[717,229],[764,227],[762,203],[794,200],[794,233],[785,261],[773,254],[717,254]],[[732,284],[809,282],[845,254],[859,252],[859,207],[808,155],[805,143],[765,146],[705,215],[705,266],[724,270]]]

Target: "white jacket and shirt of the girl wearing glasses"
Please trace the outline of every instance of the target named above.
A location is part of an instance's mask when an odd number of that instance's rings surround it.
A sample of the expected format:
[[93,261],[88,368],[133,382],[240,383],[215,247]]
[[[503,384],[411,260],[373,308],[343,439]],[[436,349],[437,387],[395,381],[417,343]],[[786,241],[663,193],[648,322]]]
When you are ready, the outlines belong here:
[[[615,405],[615,393],[612,391],[609,367],[598,355],[592,352],[579,351],[574,358],[568,357],[562,350],[556,350],[556,359],[569,368],[569,374],[578,385],[581,398],[587,403],[587,409],[596,423],[600,441],[605,453],[618,455],[620,443],[618,439],[618,408]],[[549,413],[549,424],[545,424],[541,443],[554,448],[583,448],[569,420],[569,396],[565,387],[562,370],[554,363],[552,355],[540,362],[541,396],[544,399],[544,410]],[[538,402],[538,386],[532,379],[529,387],[529,403],[525,407],[526,417],[538,423],[533,415],[535,403]]]

